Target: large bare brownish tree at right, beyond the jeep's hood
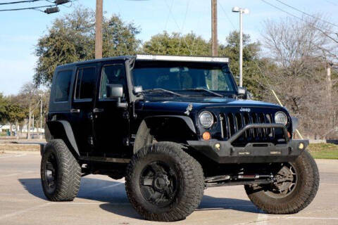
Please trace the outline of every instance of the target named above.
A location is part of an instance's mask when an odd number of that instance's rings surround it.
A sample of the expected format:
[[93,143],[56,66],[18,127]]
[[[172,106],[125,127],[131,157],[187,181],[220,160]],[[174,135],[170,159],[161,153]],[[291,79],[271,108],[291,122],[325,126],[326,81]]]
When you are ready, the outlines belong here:
[[263,33],[265,48],[275,64],[266,71],[270,87],[301,119],[301,129],[314,137],[332,129],[332,113],[338,108],[337,89],[330,91],[331,100],[327,98],[326,70],[332,58],[325,49],[337,47],[323,33],[330,29],[318,17],[302,21],[286,18],[266,21]]

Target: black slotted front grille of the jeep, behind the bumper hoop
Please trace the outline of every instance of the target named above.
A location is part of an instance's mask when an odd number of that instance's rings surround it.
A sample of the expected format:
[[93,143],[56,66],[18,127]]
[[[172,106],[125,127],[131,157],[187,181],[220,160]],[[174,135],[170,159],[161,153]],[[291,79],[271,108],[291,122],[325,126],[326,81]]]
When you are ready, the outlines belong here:
[[[222,123],[222,139],[230,139],[232,135],[237,133],[247,124],[273,123],[273,114],[270,113],[220,113],[220,121]],[[280,136],[282,132],[273,128],[251,128],[244,132],[236,141],[234,146],[245,146],[249,142],[280,142],[284,136]]]

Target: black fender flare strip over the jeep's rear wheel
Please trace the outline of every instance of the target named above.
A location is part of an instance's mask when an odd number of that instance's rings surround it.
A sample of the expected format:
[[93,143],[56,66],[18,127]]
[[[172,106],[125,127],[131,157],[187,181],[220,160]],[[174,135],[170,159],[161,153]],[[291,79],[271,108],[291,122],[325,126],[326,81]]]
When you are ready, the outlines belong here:
[[[80,156],[79,148],[77,148],[77,143],[75,141],[75,136],[73,133],[73,129],[68,121],[65,120],[54,120],[46,123],[46,141],[49,141],[50,139],[54,139],[55,136],[55,130],[52,128],[54,127],[54,124],[61,124],[63,127],[63,131],[65,134],[65,137],[68,139],[70,146],[73,148],[77,156]],[[66,143],[67,144],[67,143]]]

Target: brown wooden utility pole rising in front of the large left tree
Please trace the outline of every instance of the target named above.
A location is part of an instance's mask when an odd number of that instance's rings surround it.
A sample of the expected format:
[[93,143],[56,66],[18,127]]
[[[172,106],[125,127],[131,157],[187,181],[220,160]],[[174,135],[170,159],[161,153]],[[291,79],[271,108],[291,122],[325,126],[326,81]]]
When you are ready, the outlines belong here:
[[95,58],[102,58],[103,0],[96,0],[95,13]]

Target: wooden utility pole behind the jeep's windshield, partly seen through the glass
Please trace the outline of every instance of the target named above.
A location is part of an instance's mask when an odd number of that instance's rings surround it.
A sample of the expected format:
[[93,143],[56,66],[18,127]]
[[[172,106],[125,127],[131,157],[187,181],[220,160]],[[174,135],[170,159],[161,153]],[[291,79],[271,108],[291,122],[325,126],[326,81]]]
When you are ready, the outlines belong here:
[[[211,56],[218,56],[217,0],[211,0]],[[214,72],[211,77],[212,89],[218,90],[218,75]]]

